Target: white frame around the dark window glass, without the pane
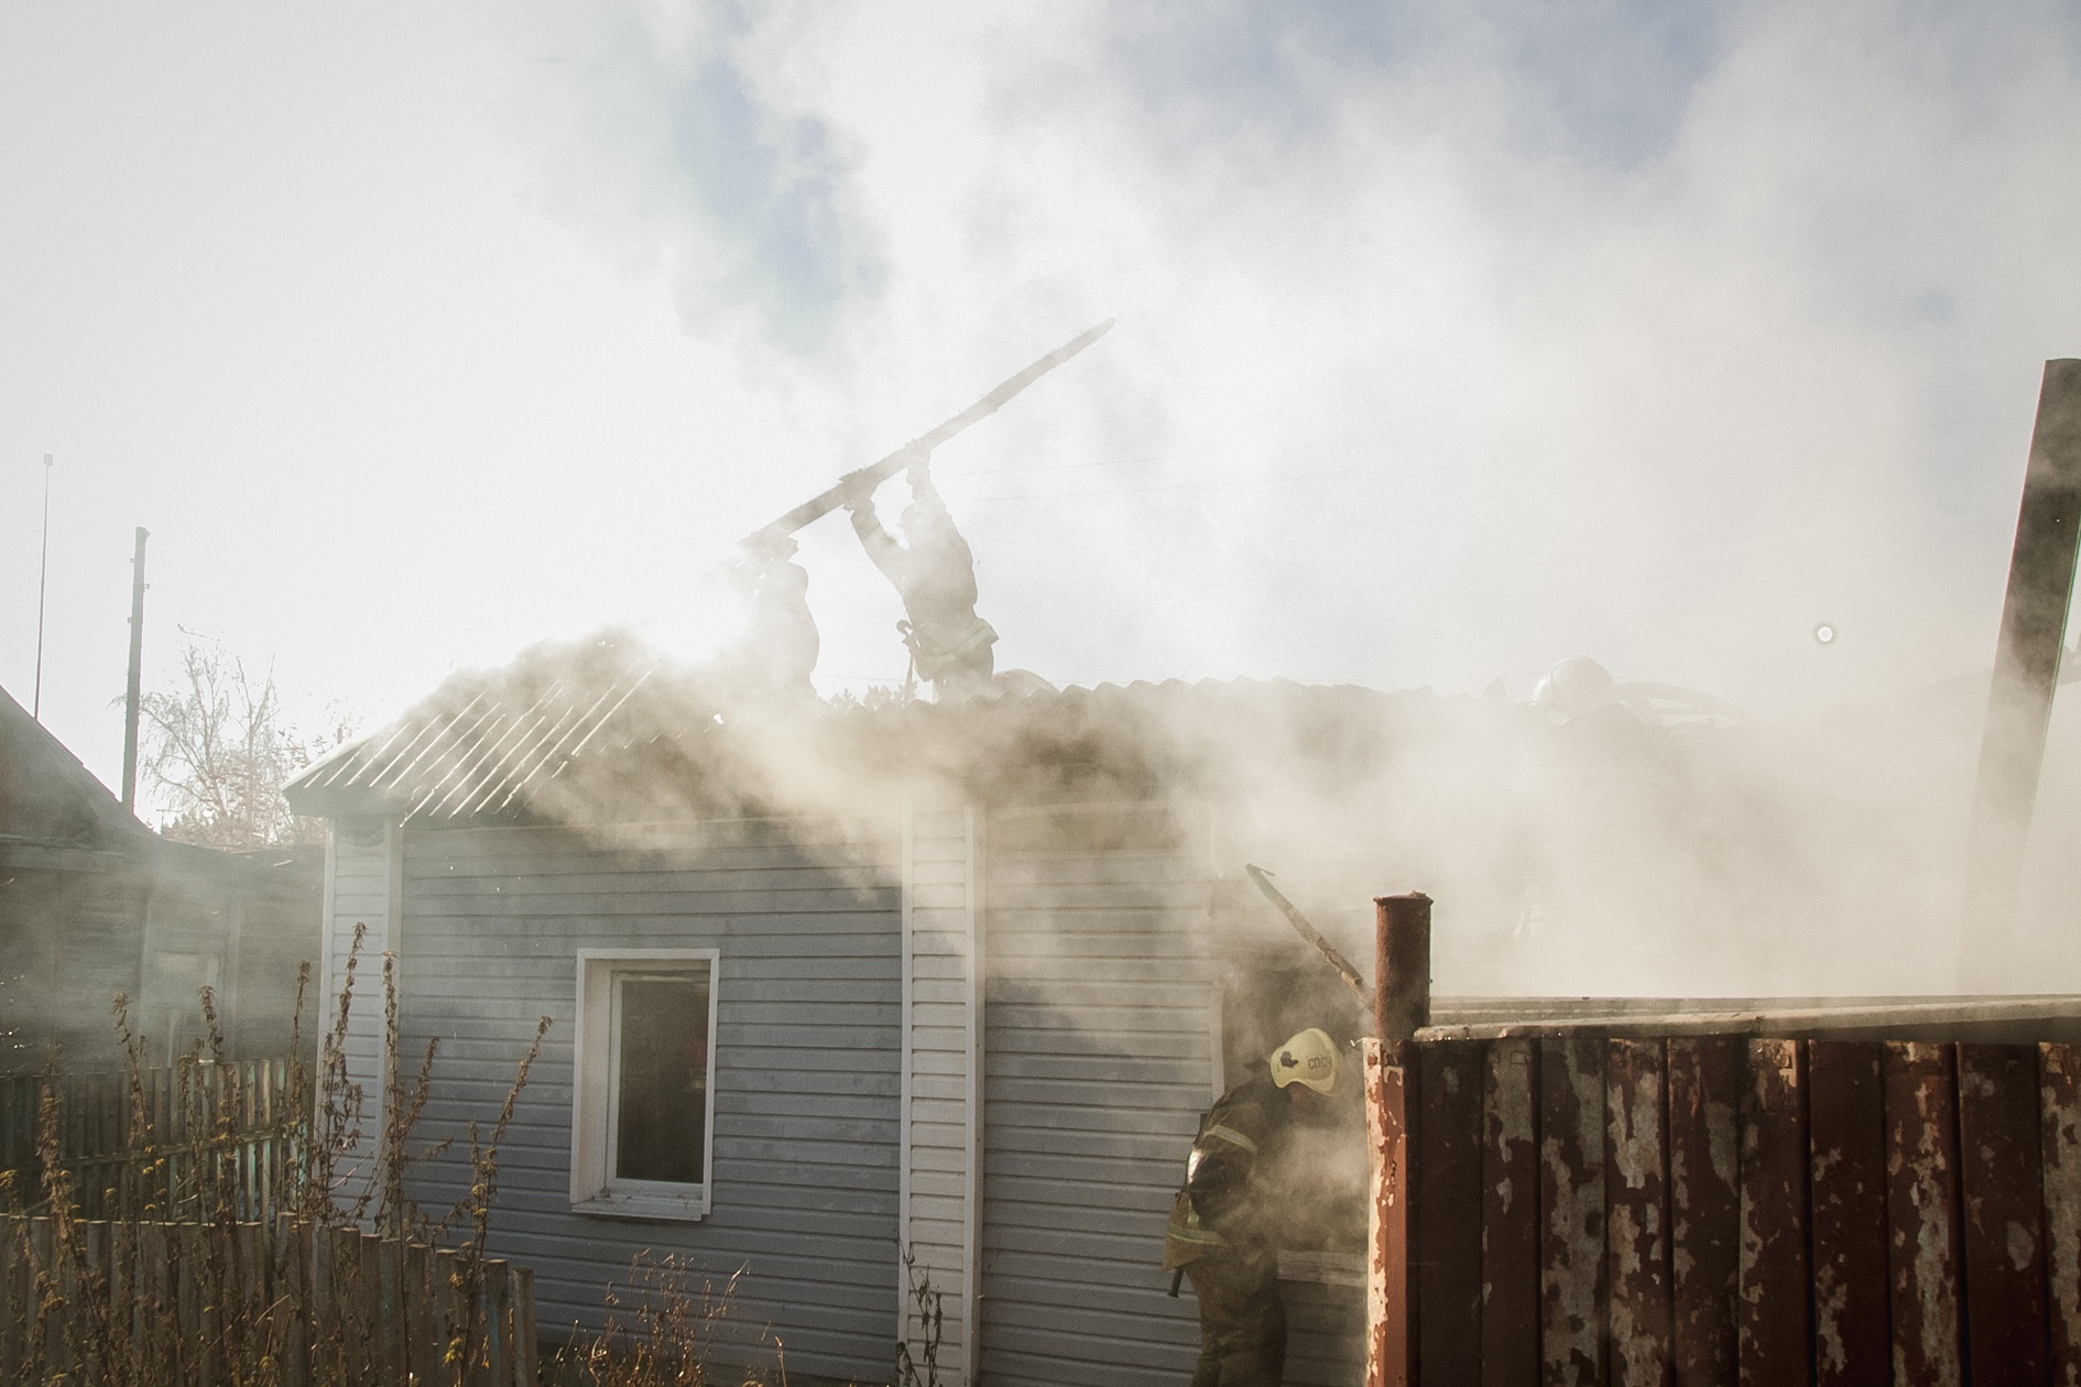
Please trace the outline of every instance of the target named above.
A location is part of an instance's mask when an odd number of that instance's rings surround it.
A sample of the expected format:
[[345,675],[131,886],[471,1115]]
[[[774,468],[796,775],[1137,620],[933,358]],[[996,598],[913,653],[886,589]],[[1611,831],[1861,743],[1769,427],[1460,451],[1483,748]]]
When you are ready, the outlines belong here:
[[[581,948],[579,1025],[570,1056],[570,1208],[612,1219],[708,1216],[716,1187],[716,1013],[722,992],[718,948]],[[660,965],[708,965],[708,1113],[701,1123],[701,1183],[614,1179],[616,1033],[614,984],[618,977],[662,971]]]

